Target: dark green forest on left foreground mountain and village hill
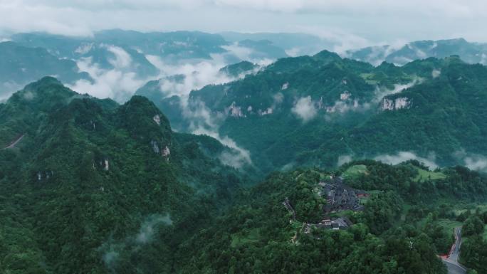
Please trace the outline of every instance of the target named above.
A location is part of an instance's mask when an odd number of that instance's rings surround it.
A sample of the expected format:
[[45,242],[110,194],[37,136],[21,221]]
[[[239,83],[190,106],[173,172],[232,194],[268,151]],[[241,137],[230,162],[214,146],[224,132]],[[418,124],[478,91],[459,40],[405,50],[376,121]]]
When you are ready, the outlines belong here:
[[[1,273],[446,273],[437,257],[464,223],[463,262],[483,268],[487,178],[464,167],[372,160],[258,174],[221,164],[211,137],[173,132],[146,98],[98,100],[43,78],[0,105]],[[18,140],[19,142],[14,142]],[[370,196],[323,218],[323,182]],[[288,199],[293,214],[284,206]]]

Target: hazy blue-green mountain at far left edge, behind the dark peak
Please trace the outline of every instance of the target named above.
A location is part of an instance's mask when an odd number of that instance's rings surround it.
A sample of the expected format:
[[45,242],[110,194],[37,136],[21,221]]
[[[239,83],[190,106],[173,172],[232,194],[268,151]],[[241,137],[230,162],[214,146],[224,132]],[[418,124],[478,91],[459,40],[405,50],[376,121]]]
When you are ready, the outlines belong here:
[[79,71],[73,60],[53,56],[44,48],[27,48],[14,42],[0,43],[0,98],[46,75],[56,76],[64,83],[92,80],[88,73]]

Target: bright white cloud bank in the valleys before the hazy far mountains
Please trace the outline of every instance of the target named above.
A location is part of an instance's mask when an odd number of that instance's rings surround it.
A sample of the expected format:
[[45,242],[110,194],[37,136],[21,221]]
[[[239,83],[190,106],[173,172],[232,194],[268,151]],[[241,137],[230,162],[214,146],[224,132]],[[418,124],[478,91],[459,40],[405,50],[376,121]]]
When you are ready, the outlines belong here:
[[[95,63],[91,57],[80,58],[77,60],[80,72],[87,72],[93,78],[93,83],[89,80],[78,80],[73,85],[69,85],[69,88],[79,93],[88,93],[97,98],[112,98],[118,102],[124,102],[135,93],[135,90],[148,81],[160,79],[162,98],[177,95],[183,99],[183,103],[187,103],[187,97],[192,90],[198,90],[209,84],[228,83],[245,76],[244,73],[232,77],[220,72],[221,68],[229,65],[226,63],[226,56],[229,54],[238,56],[238,51],[214,54],[208,60],[182,59],[176,63],[167,62],[159,56],[147,55],[145,57],[159,70],[159,75],[145,77],[144,75],[137,75],[137,64],[133,62],[130,54],[123,48],[106,44],[102,44],[100,47],[113,54],[113,57],[108,58],[108,63],[113,68],[101,68],[100,64]],[[234,48],[234,50],[236,49]],[[250,54],[251,49],[247,50]],[[86,49],[80,48],[80,51],[86,51]],[[239,47],[239,51],[244,51],[244,49]],[[241,54],[240,57],[246,58],[247,55]],[[270,60],[259,61],[261,64],[268,62]],[[183,75],[184,78],[181,81],[174,80],[171,77],[174,75]]]

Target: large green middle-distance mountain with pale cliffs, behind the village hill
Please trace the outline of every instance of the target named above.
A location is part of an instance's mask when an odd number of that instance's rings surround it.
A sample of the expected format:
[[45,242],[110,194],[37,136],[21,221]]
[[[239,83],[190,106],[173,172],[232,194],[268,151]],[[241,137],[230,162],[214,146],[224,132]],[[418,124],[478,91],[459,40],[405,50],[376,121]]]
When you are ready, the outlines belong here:
[[[469,159],[487,154],[486,76],[485,66],[458,56],[374,67],[323,51],[194,90],[187,104],[172,97],[158,105],[170,120],[179,117],[173,122],[179,130],[199,123],[233,139],[265,172],[362,157],[392,161],[400,152],[432,167],[473,167]],[[184,120],[178,109],[214,120]]]

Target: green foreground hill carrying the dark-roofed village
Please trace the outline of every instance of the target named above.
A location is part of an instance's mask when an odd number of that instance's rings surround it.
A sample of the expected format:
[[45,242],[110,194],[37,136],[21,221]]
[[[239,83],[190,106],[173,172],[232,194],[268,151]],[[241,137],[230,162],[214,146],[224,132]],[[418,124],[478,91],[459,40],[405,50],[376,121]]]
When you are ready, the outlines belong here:
[[[486,177],[458,167],[419,179],[426,170],[364,161],[275,172],[182,246],[180,273],[446,273],[436,256],[453,244],[444,223],[455,203],[485,201]],[[343,184],[365,207],[325,213],[335,192],[325,189]]]

